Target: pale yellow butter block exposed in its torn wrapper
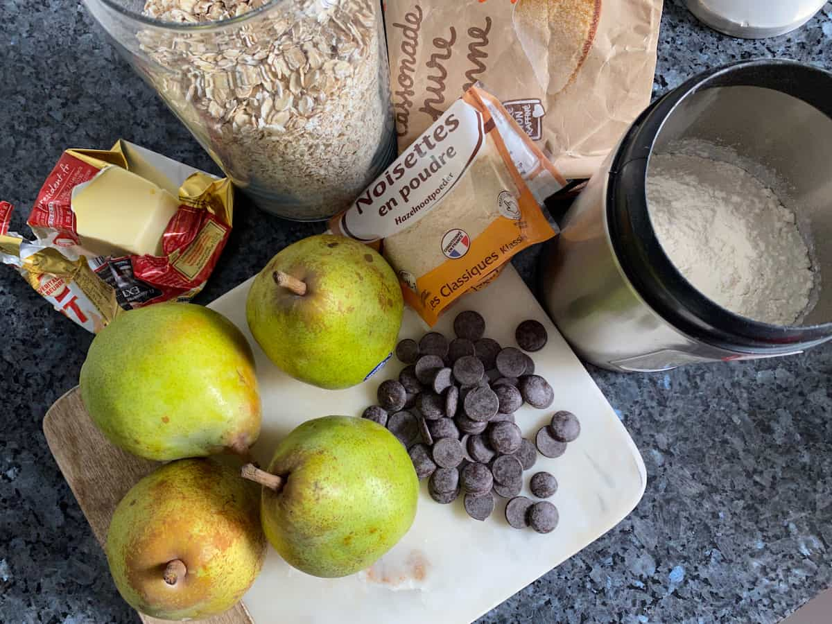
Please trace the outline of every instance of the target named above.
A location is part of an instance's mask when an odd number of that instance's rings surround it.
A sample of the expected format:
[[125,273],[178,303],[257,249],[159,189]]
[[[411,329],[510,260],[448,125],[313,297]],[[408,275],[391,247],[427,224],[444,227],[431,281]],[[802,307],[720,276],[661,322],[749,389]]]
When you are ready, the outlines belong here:
[[95,255],[163,255],[179,198],[119,166],[72,191],[78,242]]

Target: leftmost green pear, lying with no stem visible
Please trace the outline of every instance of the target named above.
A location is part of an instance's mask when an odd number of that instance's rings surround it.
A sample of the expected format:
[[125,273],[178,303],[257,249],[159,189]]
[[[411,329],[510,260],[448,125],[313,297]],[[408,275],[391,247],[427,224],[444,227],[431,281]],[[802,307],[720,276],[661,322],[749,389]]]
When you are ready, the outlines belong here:
[[251,348],[228,319],[200,305],[117,316],[92,340],[80,386],[97,427],[143,458],[245,453],[260,434]]

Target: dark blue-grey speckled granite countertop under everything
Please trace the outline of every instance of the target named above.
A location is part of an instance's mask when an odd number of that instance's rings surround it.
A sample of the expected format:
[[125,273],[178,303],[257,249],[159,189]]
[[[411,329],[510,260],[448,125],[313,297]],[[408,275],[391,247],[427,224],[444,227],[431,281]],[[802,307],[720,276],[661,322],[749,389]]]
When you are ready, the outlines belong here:
[[[666,0],[655,92],[708,67],[790,57],[832,70],[832,3],[747,42]],[[0,3],[0,191],[20,210],[66,146],[123,136],[215,171],[76,2]],[[320,228],[243,208],[199,302]],[[518,258],[533,279],[535,253]],[[137,622],[41,423],[92,339],[0,267],[0,622]],[[483,622],[777,622],[832,585],[832,345],[790,359],[592,376],[641,449],[646,495],[618,527]]]

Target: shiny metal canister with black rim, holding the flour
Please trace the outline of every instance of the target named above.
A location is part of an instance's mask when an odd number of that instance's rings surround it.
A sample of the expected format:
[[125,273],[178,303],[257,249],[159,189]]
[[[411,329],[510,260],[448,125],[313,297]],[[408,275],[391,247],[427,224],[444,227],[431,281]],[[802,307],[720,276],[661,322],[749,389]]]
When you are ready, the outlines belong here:
[[[651,226],[650,156],[701,141],[753,163],[797,215],[816,275],[793,326],[722,308],[676,269]],[[593,176],[544,255],[552,318],[584,359],[616,370],[800,352],[832,338],[832,74],[797,62],[740,62],[654,102]]]

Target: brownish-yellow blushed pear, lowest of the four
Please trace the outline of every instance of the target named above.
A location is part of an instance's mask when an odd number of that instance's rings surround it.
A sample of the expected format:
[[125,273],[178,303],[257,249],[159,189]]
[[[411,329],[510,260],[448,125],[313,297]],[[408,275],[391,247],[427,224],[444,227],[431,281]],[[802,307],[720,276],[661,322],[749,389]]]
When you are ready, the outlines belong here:
[[260,573],[258,488],[214,459],[167,463],[118,503],[106,557],[121,597],[163,620],[233,607]]

